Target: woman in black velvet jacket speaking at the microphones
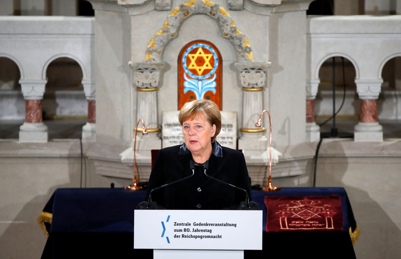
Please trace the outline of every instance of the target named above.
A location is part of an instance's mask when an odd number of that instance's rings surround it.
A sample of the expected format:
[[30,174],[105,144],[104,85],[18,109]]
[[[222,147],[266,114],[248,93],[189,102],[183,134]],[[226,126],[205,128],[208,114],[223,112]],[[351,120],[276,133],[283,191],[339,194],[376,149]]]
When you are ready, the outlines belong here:
[[217,105],[208,100],[186,103],[178,120],[184,143],[159,151],[145,200],[152,190],[151,200],[167,209],[238,208],[246,192],[252,200],[244,155],[216,141],[222,127]]

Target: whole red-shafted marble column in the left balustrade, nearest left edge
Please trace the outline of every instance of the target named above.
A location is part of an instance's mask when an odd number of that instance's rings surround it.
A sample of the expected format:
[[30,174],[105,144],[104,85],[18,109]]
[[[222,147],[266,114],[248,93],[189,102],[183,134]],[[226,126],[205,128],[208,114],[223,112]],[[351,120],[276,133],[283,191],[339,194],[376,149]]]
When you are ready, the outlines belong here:
[[20,126],[20,142],[48,141],[48,128],[42,118],[42,99],[46,82],[46,80],[20,80],[25,99],[25,122]]

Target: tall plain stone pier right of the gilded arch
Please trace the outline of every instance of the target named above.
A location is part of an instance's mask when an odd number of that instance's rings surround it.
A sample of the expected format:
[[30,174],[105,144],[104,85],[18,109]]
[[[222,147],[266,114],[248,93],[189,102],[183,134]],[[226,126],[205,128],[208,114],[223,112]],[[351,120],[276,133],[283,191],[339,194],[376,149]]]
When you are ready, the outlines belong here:
[[273,146],[281,152],[306,141],[302,130],[305,129],[305,98],[300,98],[306,96],[303,69],[306,53],[294,51],[306,49],[305,25],[305,12],[299,11],[272,14],[269,26],[272,66],[264,105],[272,114]]

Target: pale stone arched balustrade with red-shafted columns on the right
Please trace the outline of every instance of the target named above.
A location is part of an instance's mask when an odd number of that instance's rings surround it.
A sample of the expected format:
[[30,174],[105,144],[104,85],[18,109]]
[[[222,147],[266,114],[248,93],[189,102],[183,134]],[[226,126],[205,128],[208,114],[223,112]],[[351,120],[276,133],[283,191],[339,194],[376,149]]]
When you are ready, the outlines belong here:
[[[360,99],[355,141],[382,141],[377,121],[376,100],[381,92],[381,72],[387,61],[401,57],[401,16],[324,16],[307,19],[307,82],[309,106],[319,85],[322,64],[332,57],[349,60],[355,69],[356,92]],[[401,89],[398,89],[398,91]],[[399,101],[398,101],[399,102]],[[310,109],[307,110],[311,113]],[[306,114],[307,120],[311,114]],[[313,129],[313,130],[312,130]],[[317,141],[320,132],[307,122],[307,138]]]

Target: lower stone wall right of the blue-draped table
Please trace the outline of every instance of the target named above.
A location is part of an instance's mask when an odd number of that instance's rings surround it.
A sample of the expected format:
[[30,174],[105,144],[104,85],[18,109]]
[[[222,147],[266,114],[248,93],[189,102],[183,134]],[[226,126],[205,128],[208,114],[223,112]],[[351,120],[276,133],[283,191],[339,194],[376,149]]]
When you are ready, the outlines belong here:
[[401,256],[400,143],[325,139],[320,147],[316,186],[347,191],[361,232],[354,246],[356,258]]

